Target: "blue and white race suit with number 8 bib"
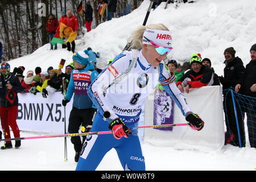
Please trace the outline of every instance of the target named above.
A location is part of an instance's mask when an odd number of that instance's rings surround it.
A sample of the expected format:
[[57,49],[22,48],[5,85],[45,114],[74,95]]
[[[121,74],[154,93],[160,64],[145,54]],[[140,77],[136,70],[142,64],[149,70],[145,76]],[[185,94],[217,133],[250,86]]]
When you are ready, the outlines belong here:
[[[88,87],[88,94],[98,111],[93,121],[93,131],[109,130],[109,122],[121,118],[132,131],[129,138],[115,139],[113,135],[90,135],[87,137],[81,151],[76,170],[95,170],[104,155],[115,148],[119,160],[125,170],[145,170],[144,156],[138,138],[138,121],[141,106],[145,103],[152,89],[158,84],[175,100],[183,115],[191,111],[184,95],[177,89],[174,79],[164,68],[164,61],[158,67],[148,64],[142,52],[138,52],[138,59],[130,73],[119,82],[117,77],[126,72],[133,60],[131,51],[123,51],[113,60],[97,80]],[[103,114],[110,111],[110,118],[105,119]]]

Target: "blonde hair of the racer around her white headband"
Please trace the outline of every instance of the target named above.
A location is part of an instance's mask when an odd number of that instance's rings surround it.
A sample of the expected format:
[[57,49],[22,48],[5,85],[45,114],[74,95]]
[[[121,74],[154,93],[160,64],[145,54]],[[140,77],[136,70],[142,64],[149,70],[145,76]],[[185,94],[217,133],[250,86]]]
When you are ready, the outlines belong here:
[[139,26],[131,34],[131,39],[133,40],[131,43],[131,49],[142,49],[142,36],[146,28],[169,31],[169,29],[162,23],[150,24],[148,26]]

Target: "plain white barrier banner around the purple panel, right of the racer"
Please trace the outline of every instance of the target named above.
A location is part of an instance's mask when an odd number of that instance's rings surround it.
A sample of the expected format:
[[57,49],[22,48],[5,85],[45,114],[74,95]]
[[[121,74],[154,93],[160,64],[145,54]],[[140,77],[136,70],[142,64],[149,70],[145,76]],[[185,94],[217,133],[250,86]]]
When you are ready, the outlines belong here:
[[[199,150],[220,150],[224,146],[224,113],[221,86],[203,86],[191,89],[184,96],[193,113],[199,114],[205,125],[201,131],[188,126],[176,126],[172,131],[144,131],[144,140],[158,138],[159,143],[166,141],[176,148]],[[148,97],[145,105],[145,124],[152,125],[154,117],[154,94]],[[174,104],[174,123],[187,123],[180,109]],[[163,144],[163,143],[162,143]]]

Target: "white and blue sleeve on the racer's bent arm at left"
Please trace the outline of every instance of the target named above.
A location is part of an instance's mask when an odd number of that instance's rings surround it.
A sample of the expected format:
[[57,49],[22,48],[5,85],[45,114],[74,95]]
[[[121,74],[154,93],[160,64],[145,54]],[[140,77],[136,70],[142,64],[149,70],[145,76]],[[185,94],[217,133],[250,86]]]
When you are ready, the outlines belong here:
[[101,115],[105,111],[110,112],[110,118],[106,121],[112,121],[118,116],[110,109],[108,102],[106,102],[105,94],[110,92],[109,85],[121,75],[129,67],[130,56],[125,53],[121,53],[113,60],[113,63],[109,65],[100,75],[92,82],[88,87],[88,95],[92,99],[94,106],[97,107],[97,110]]

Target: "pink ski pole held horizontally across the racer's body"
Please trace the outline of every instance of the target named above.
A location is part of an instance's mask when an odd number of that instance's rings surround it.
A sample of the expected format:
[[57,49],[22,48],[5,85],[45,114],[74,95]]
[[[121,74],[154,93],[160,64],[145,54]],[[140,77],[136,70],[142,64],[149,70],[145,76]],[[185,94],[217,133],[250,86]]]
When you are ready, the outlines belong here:
[[[158,127],[174,127],[174,126],[188,126],[189,123],[177,123],[177,124],[168,124],[168,125],[148,125],[148,126],[139,126],[139,129],[144,128],[158,128]],[[6,140],[27,140],[27,139],[39,139],[39,138],[57,138],[57,137],[78,137],[78,136],[86,136],[86,135],[105,135],[112,134],[112,131],[95,131],[88,133],[72,133],[72,134],[60,134],[60,135],[44,135],[44,136],[36,136],[36,137],[20,137],[20,138],[7,138],[1,139],[0,141]]]

